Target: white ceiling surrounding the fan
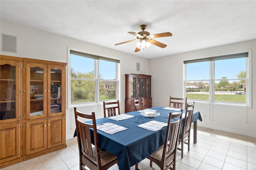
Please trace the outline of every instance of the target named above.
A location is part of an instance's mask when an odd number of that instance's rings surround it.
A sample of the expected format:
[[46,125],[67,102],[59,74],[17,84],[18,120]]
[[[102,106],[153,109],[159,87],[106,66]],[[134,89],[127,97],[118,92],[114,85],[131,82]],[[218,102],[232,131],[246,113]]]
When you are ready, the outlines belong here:
[[[1,19],[94,43],[144,58],[156,58],[196,49],[256,39],[256,1],[183,0],[1,0]],[[166,48],[152,45],[134,52],[146,24]]]

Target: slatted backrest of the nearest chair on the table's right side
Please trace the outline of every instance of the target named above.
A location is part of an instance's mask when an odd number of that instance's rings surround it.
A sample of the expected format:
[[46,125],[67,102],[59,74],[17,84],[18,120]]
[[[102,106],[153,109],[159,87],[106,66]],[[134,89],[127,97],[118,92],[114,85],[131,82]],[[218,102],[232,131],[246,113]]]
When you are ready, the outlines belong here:
[[[182,112],[183,109],[178,113],[170,113],[169,115],[161,160],[161,167],[166,167],[165,169],[169,169],[172,166],[170,162],[174,161],[175,164]],[[168,166],[168,164],[170,165]]]

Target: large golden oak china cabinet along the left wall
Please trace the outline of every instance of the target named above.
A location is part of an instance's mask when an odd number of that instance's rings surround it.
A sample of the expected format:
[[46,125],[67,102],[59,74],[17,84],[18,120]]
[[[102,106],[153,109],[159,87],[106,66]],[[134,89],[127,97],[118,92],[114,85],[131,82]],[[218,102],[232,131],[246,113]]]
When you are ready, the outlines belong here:
[[66,63],[1,55],[0,168],[66,148]]

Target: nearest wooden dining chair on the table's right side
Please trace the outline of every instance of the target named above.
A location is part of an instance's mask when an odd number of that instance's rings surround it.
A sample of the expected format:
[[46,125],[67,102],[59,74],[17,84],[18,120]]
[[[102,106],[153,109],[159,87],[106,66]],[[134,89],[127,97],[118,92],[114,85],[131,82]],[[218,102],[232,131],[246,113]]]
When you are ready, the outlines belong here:
[[[147,157],[150,160],[150,167],[152,167],[152,162],[155,162],[161,170],[175,170],[176,148],[180,133],[182,112],[183,110],[181,109],[178,113],[169,114],[164,145],[160,146],[154,153]],[[174,118],[178,119],[174,121],[172,120]],[[138,170],[138,164],[135,165],[135,170]]]

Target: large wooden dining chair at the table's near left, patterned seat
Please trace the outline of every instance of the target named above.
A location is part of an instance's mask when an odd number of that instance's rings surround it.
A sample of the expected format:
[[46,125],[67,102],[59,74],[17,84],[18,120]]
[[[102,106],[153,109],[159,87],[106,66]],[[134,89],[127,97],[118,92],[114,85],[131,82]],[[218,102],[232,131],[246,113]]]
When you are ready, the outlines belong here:
[[[74,112],[79,148],[80,170],[86,170],[85,166],[91,170],[107,170],[114,164],[117,164],[118,159],[115,155],[99,148],[95,113],[82,113],[77,111],[76,107],[74,107]],[[81,121],[80,117],[91,119],[92,124]],[[90,128],[93,130],[93,133],[90,133]],[[94,144],[92,144],[92,139],[94,139]]]

